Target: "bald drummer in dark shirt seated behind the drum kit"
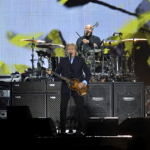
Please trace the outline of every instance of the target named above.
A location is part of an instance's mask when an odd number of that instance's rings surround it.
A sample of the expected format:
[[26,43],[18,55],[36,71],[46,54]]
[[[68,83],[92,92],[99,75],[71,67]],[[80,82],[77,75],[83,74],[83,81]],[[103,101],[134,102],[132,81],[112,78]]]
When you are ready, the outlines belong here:
[[79,52],[88,53],[88,51],[92,50],[93,48],[100,49],[100,43],[101,39],[93,35],[92,25],[88,24],[84,29],[84,35],[78,38],[76,41],[78,53]]

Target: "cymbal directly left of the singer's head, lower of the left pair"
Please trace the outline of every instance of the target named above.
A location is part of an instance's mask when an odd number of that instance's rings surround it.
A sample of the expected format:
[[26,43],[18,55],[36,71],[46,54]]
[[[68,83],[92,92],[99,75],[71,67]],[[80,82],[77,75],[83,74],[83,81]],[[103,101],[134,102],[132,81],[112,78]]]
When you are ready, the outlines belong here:
[[45,44],[37,44],[36,47],[55,49],[55,48],[64,48],[65,46],[64,45],[59,45],[59,44],[45,43]]

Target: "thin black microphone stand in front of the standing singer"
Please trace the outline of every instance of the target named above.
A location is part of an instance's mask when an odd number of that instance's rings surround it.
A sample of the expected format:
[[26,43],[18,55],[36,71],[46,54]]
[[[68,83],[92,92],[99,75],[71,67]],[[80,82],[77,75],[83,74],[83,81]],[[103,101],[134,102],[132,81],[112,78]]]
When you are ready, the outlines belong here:
[[[70,71],[69,71],[69,75],[70,75],[70,78],[72,77],[72,68],[71,68],[71,55],[72,55],[72,53],[69,53],[69,62],[70,62]],[[72,130],[72,128],[71,128],[71,89],[70,89],[70,99],[69,99],[69,101],[70,101],[70,127],[69,127],[69,134],[72,134],[73,133],[73,130]]]

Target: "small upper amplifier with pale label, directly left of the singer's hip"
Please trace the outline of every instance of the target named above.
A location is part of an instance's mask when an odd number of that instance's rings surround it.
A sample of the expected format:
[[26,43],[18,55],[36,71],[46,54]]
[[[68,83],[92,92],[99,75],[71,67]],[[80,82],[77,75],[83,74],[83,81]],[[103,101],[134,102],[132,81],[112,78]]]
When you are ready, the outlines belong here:
[[60,94],[61,82],[47,82],[47,93]]

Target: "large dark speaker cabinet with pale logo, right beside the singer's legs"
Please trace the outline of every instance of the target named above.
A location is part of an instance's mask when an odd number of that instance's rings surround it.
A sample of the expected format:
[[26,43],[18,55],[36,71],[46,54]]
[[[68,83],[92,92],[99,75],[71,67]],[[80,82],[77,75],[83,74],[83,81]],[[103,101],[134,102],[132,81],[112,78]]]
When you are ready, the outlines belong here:
[[84,101],[88,117],[113,117],[113,83],[90,83]]

